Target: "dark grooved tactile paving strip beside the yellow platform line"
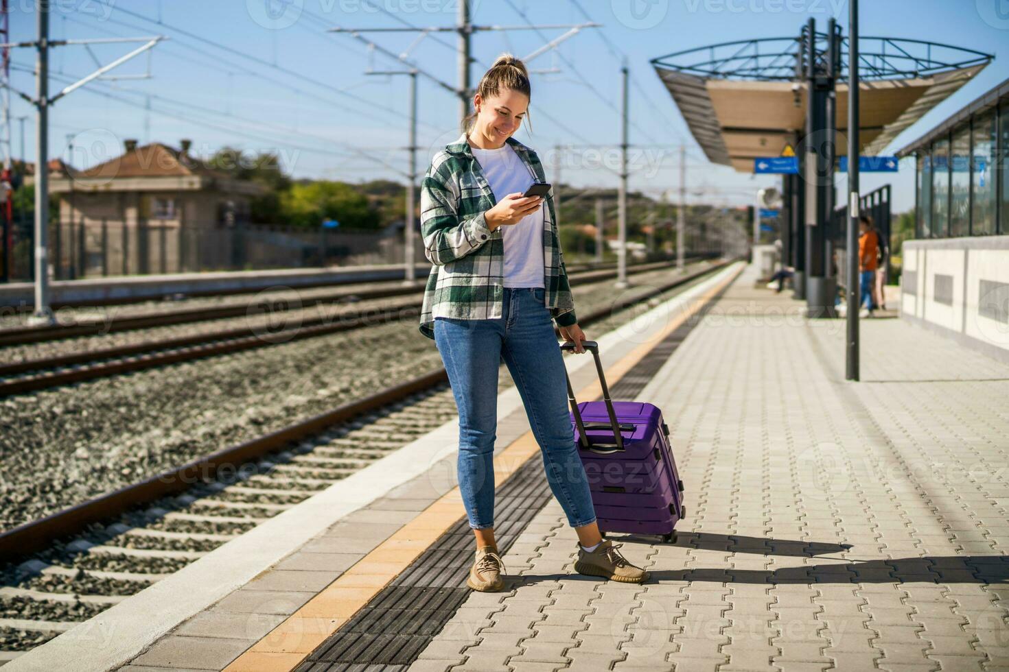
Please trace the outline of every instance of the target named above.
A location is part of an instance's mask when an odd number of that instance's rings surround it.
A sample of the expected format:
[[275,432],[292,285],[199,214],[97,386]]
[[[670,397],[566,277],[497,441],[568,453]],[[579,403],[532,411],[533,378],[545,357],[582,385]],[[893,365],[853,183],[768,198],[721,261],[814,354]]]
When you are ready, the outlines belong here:
[[[637,397],[725,289],[610,385],[610,396]],[[538,459],[529,460],[500,487],[494,496],[494,537],[501,555],[551,496]],[[473,533],[463,519],[312,652],[296,672],[406,670],[466,600],[472,559]]]

